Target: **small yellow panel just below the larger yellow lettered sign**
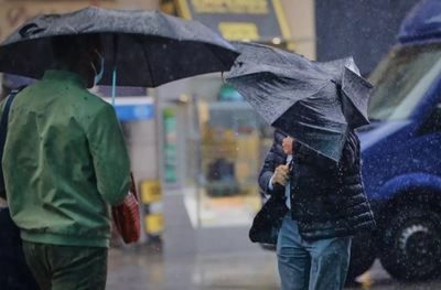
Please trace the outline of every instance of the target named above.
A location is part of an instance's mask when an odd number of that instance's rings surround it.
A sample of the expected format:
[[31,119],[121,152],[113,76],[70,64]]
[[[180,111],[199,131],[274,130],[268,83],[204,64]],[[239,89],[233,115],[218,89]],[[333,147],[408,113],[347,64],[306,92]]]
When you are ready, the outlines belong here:
[[259,40],[259,31],[255,23],[220,22],[219,31],[225,39],[230,41]]

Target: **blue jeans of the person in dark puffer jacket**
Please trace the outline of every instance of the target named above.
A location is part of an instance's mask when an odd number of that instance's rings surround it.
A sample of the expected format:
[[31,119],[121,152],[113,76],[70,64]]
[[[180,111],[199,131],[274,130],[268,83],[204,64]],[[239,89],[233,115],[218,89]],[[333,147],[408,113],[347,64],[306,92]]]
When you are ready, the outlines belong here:
[[277,240],[282,290],[341,290],[349,266],[351,238],[302,239],[288,213]]

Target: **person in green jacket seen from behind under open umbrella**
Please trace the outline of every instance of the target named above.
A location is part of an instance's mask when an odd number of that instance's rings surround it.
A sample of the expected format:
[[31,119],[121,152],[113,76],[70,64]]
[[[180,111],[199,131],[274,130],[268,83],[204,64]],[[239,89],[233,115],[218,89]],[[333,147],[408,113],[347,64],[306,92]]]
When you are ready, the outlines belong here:
[[109,207],[128,193],[129,157],[115,109],[87,90],[104,68],[99,39],[52,44],[56,67],[11,107],[8,204],[43,290],[105,289]]

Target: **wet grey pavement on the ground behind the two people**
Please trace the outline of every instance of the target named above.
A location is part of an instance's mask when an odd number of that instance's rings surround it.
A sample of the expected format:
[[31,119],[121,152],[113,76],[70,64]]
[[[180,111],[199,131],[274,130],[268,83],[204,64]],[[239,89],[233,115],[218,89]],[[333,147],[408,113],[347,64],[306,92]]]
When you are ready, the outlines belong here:
[[[247,251],[164,258],[160,249],[112,249],[108,290],[272,290],[278,288],[276,256],[250,247]],[[375,290],[439,290],[441,281],[402,283],[377,261],[361,277],[361,287]]]

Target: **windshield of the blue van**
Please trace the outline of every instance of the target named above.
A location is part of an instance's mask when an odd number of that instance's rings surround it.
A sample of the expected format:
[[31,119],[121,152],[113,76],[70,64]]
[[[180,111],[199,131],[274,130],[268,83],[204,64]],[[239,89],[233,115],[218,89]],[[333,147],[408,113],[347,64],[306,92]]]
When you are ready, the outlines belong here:
[[441,45],[399,47],[374,71],[369,103],[373,120],[408,118],[441,74]]

